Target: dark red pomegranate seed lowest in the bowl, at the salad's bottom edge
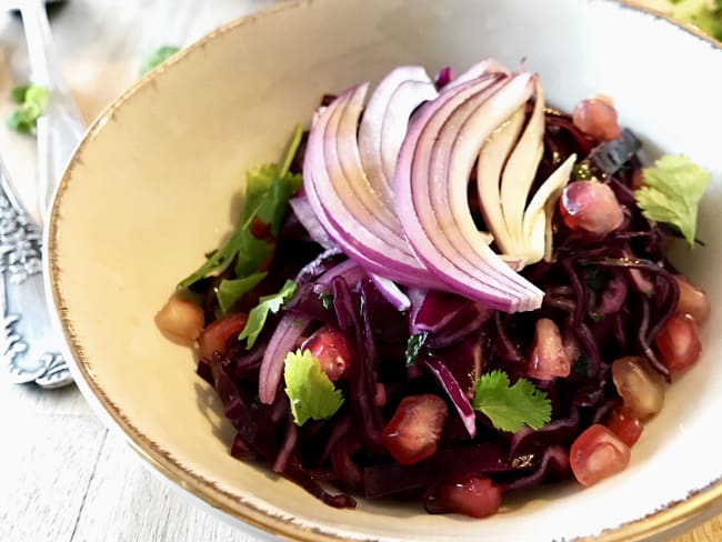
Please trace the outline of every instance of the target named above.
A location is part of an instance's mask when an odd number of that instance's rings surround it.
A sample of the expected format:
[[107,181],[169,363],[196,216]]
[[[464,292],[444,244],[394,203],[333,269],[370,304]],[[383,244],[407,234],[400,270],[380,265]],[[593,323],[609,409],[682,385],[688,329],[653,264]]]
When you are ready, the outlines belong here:
[[447,482],[439,490],[439,504],[447,512],[489,518],[501,506],[501,490],[483,475]]

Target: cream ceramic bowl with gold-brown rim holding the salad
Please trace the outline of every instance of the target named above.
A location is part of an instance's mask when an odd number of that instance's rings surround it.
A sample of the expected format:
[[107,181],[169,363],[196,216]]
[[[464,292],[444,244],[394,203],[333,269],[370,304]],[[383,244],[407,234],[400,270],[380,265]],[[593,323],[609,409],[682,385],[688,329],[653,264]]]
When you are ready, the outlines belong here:
[[[651,155],[681,151],[712,170],[706,245],[678,258],[714,302],[705,354],[629,469],[591,489],[542,489],[484,521],[378,501],[324,506],[228,454],[219,401],[153,315],[229,232],[244,170],[275,160],[322,93],[404,62],[461,69],[485,56],[525,58],[560,108],[612,96]],[[621,540],[708,518],[722,494],[720,89],[719,46],[612,0],[302,0],[231,23],[111,106],[58,190],[48,288],[78,383],[153,469],[227,518],[290,539]]]

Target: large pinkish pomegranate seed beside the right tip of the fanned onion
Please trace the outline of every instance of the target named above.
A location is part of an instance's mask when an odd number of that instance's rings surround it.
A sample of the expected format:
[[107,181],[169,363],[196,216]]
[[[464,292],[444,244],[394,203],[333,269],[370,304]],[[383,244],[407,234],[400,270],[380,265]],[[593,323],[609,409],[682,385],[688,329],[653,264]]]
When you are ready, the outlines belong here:
[[572,230],[606,235],[624,221],[622,205],[612,189],[599,181],[574,181],[564,187],[559,199],[564,223]]

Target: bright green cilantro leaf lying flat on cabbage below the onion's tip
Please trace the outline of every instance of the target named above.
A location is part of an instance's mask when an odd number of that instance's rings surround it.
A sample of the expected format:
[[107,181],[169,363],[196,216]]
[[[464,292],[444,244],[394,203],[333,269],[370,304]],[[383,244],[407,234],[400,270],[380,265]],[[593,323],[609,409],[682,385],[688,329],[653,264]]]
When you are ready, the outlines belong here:
[[474,410],[484,413],[500,431],[515,433],[523,425],[541,429],[549,423],[552,404],[546,393],[527,379],[509,385],[505,372],[495,370],[477,381]]

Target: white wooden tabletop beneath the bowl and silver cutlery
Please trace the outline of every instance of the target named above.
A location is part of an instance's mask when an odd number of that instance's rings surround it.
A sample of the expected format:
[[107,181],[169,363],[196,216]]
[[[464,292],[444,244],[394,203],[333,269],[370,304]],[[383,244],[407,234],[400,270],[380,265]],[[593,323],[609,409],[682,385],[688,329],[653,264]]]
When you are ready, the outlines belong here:
[[[87,121],[138,78],[144,57],[188,44],[273,0],[71,0],[53,17],[63,70]],[[0,7],[2,0],[0,0]],[[28,78],[22,29],[0,10],[0,118]],[[0,149],[37,214],[34,141],[0,127]],[[714,520],[676,542],[720,540]],[[151,475],[74,387],[11,385],[0,371],[0,542],[249,542]]]

